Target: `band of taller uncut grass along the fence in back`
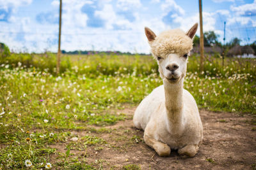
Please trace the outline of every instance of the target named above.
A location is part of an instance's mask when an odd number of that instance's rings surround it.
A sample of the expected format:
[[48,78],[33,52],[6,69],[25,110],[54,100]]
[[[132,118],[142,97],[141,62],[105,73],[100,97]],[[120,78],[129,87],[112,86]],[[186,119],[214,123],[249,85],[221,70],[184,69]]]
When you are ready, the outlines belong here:
[[[227,77],[234,74],[250,74],[256,77],[255,59],[225,58],[224,66],[222,59],[205,55],[204,73],[207,76]],[[56,54],[29,54],[12,53],[7,57],[1,56],[0,63],[8,64],[9,67],[36,67],[40,71],[46,71],[56,75]],[[199,73],[200,57],[193,54],[189,57],[188,72]],[[100,74],[136,74],[137,76],[157,73],[157,63],[149,55],[110,55],[99,53],[95,55],[62,55],[60,72],[66,74],[86,74],[95,78]]]

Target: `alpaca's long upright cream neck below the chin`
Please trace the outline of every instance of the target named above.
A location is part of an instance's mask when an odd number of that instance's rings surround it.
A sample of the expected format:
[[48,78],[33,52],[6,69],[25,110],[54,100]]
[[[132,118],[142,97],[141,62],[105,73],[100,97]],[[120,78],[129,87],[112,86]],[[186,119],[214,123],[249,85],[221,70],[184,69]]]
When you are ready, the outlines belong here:
[[175,84],[164,81],[167,124],[174,132],[183,130],[183,80],[182,78],[179,83]]

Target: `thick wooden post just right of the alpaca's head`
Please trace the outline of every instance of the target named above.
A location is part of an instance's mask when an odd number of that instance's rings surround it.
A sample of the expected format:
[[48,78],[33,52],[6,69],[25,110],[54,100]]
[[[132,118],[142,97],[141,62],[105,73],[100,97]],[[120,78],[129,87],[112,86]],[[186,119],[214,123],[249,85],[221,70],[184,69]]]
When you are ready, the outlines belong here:
[[202,0],[199,0],[199,17],[200,17],[200,71],[204,70],[204,32],[202,16]]

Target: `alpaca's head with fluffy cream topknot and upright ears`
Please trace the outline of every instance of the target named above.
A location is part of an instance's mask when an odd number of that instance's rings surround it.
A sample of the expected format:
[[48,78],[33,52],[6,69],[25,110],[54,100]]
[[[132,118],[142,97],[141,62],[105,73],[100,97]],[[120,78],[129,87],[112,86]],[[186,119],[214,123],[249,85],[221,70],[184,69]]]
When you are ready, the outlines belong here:
[[159,73],[164,81],[177,83],[184,78],[197,27],[196,23],[188,32],[173,29],[161,32],[159,36],[145,27],[151,52],[157,60]]

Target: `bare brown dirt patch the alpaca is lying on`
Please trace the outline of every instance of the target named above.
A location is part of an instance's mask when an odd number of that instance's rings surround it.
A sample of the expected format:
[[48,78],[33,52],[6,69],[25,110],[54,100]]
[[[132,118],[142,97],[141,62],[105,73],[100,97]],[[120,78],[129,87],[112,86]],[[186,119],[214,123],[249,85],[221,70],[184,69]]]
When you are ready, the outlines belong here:
[[[122,113],[132,117],[134,110],[125,109]],[[86,160],[102,160],[103,169],[122,169],[127,164],[139,165],[141,169],[256,169],[256,126],[250,124],[252,117],[205,110],[200,110],[200,116],[204,141],[193,158],[180,157],[177,151],[172,151],[170,157],[159,157],[145,145],[143,131],[135,129],[129,119],[105,127],[111,132],[95,134],[108,144],[102,150],[89,147]],[[76,133],[84,136],[83,132]]]

